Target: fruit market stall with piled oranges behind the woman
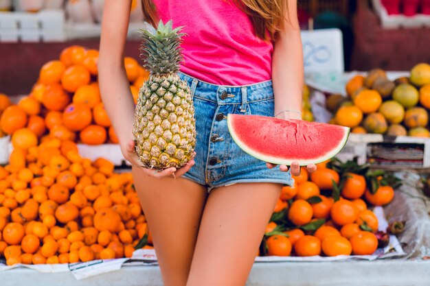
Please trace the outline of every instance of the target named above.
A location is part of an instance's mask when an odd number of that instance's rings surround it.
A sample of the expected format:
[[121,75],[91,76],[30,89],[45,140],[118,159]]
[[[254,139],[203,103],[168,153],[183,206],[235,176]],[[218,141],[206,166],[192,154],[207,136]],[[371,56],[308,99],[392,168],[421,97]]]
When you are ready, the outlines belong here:
[[[70,21],[82,22],[75,32],[91,25],[84,37],[100,33],[100,20],[85,23],[93,14],[73,16],[73,9]],[[2,285],[162,285],[101,102],[98,40],[80,43],[50,43],[35,57],[37,71],[21,75],[23,90],[0,95]],[[131,42],[133,54],[139,45]],[[148,71],[130,57],[124,64],[136,102]],[[302,169],[282,188],[249,285],[428,284],[430,66],[407,69],[306,75],[304,119],[353,133],[338,158],[313,174]]]

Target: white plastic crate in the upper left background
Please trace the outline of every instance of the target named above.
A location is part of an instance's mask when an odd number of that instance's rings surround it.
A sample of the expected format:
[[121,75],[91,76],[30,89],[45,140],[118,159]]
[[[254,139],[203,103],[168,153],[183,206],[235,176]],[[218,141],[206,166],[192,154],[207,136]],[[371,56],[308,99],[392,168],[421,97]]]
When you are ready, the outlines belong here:
[[66,40],[63,10],[37,13],[0,12],[0,42],[61,42]]

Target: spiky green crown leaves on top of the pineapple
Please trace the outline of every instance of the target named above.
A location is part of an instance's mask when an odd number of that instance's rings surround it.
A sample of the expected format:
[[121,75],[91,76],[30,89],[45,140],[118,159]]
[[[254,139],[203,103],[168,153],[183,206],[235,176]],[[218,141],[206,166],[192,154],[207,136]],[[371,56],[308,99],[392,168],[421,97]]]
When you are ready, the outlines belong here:
[[152,74],[177,73],[183,62],[181,43],[185,34],[179,33],[183,27],[173,29],[172,24],[171,20],[166,25],[159,21],[157,29],[139,29],[143,38],[140,56]]

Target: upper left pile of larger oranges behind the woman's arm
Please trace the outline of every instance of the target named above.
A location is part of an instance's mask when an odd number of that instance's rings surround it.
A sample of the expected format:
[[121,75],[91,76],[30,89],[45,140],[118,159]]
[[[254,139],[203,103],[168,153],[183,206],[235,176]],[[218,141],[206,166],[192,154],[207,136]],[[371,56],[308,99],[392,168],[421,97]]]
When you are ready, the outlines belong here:
[[[68,47],[43,65],[38,82],[17,105],[0,95],[1,132],[16,142],[49,135],[89,145],[118,143],[100,97],[97,62],[97,50]],[[136,101],[148,72],[133,58],[124,58],[124,66]]]

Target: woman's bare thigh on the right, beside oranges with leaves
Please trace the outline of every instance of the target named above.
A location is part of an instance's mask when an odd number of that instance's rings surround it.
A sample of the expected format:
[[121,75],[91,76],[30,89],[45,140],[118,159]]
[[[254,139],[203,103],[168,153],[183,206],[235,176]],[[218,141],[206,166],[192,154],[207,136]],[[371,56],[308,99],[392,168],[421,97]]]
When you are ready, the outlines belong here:
[[211,191],[187,286],[245,285],[281,189],[243,183]]

